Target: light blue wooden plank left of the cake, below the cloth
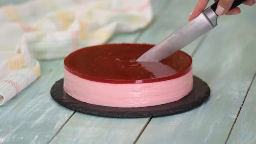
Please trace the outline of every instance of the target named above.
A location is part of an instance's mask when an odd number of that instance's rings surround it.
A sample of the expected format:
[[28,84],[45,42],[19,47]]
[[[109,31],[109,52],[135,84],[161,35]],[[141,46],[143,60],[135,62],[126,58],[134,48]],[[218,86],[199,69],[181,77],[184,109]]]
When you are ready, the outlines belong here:
[[73,111],[56,104],[50,88],[63,75],[63,59],[42,61],[42,75],[0,108],[0,142],[47,143]]

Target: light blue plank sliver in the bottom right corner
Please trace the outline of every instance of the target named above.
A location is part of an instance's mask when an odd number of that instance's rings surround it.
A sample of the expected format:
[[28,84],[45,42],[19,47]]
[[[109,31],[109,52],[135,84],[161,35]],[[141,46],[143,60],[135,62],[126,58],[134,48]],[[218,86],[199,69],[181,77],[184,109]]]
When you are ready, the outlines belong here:
[[[256,46],[254,47],[256,48]],[[253,65],[254,67],[256,65]],[[256,144],[256,79],[244,101],[227,144]]]

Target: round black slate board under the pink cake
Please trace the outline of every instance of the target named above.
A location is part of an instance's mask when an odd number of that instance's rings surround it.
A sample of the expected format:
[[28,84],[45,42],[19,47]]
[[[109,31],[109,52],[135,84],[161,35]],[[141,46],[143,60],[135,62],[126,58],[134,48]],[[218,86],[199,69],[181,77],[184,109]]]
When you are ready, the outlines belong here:
[[209,98],[210,88],[207,83],[193,76],[193,90],[184,98],[171,103],[140,107],[140,108],[116,108],[101,105],[92,105],[79,101],[68,95],[63,89],[63,79],[57,81],[51,88],[52,98],[60,105],[74,111],[89,115],[97,115],[110,118],[146,118],[173,115],[191,110],[203,104]]

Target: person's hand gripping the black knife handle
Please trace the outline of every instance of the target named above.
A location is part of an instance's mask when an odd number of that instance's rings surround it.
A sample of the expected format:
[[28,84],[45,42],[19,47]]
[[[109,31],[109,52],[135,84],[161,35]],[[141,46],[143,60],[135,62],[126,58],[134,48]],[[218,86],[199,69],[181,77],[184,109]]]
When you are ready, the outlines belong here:
[[[214,0],[214,1],[216,2],[217,0]],[[224,14],[226,15],[239,14],[241,10],[238,7],[233,8],[232,10],[229,11],[230,7],[233,4],[233,1],[234,0],[220,0],[215,13],[218,16],[221,16]],[[200,13],[203,12],[203,10],[205,9],[208,3],[209,3],[209,0],[197,0],[196,7],[192,11],[192,13],[190,13],[188,20],[193,20],[194,18],[199,16]],[[256,0],[246,0],[245,2],[243,2],[243,4],[246,4],[249,6],[252,6],[254,3],[256,3]]]

